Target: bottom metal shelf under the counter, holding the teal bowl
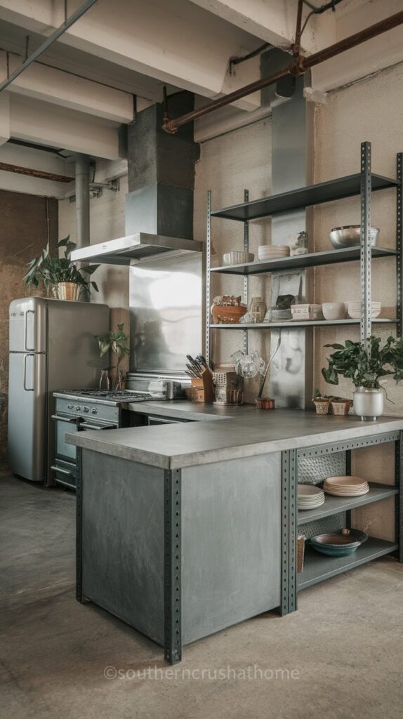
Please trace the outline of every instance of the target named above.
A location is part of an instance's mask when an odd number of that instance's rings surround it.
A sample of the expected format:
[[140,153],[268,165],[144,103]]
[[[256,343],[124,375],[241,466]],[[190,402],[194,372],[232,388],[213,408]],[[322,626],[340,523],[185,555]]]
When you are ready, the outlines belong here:
[[355,569],[360,564],[371,562],[371,559],[391,554],[397,548],[398,544],[394,542],[369,537],[349,557],[326,557],[325,554],[312,549],[309,544],[305,544],[304,569],[301,574],[297,574],[297,589],[302,590],[335,577],[336,574],[348,572],[349,569]]

